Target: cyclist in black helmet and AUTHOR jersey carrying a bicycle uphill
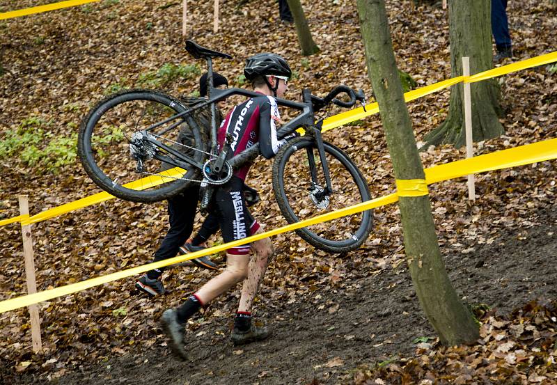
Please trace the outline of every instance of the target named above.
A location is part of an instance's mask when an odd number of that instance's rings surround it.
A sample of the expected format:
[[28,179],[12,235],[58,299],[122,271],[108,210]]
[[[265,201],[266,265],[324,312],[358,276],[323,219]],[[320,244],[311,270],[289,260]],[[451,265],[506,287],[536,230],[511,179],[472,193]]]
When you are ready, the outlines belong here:
[[[288,79],[292,71],[281,56],[262,53],[246,60],[244,75],[251,81],[253,90],[260,95],[237,105],[228,113],[219,129],[219,150],[223,146],[229,146],[230,158],[255,143],[260,143],[261,155],[269,159],[289,139],[278,140],[276,135],[280,114],[275,98],[282,97],[288,91]],[[225,141],[227,134],[230,134],[228,137],[231,136],[229,142]],[[250,166],[251,164],[244,164],[235,171],[233,178],[214,191],[212,210],[219,219],[224,242],[262,232],[259,223],[251,219],[242,189]],[[252,252],[254,256],[250,258]],[[221,274],[205,283],[178,308],[164,311],[162,327],[171,341],[173,352],[185,358],[183,339],[187,320],[199,308],[207,306],[210,301],[241,281],[244,283],[231,339],[235,345],[242,345],[267,338],[267,327],[256,327],[253,324],[251,306],[273,254],[274,249],[269,238],[228,249],[226,269]]]

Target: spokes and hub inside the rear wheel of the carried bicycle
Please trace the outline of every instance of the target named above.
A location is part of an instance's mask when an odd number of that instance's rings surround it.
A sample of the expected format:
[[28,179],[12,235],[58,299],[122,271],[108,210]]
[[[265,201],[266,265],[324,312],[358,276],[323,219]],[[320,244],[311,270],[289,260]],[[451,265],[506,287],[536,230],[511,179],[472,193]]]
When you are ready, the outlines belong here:
[[[196,143],[194,135],[187,139],[189,142],[178,143],[180,129],[189,129],[183,118],[172,119],[180,111],[183,109],[170,108],[156,98],[124,97],[93,114],[89,121],[94,123],[88,123],[93,125],[89,127],[88,140],[91,143],[90,162],[99,168],[95,173],[109,178],[113,187],[137,180],[134,188],[141,191],[164,188],[165,184],[162,182],[168,178],[157,174],[174,168],[175,164],[166,164],[155,155],[164,154],[169,159],[175,159],[175,155],[143,139],[143,136],[151,135],[153,140],[180,152],[200,151],[197,149],[200,143]],[[146,133],[148,127],[158,122],[164,124],[153,129],[152,134]]]

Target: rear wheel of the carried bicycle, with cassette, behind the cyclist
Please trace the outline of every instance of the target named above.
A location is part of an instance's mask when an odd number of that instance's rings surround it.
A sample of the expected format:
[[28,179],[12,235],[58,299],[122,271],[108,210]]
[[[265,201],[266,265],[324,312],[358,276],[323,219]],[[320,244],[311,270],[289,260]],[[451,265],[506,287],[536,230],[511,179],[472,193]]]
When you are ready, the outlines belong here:
[[[189,114],[169,119],[185,111],[178,100],[158,91],[124,91],[102,100],[79,129],[78,153],[86,173],[104,191],[127,201],[155,202],[178,194],[199,179],[199,168],[163,162],[176,157],[149,140],[203,162],[194,119]],[[152,127],[156,123],[162,124]]]

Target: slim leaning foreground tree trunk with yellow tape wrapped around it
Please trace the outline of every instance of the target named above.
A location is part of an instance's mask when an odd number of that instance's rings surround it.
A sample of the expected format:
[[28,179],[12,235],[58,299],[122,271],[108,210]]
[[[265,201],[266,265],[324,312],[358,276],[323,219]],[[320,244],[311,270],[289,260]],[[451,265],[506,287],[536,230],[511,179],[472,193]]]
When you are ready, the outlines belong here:
[[[366,62],[397,180],[425,178],[402,95],[384,0],[357,0]],[[427,319],[444,345],[473,343],[478,326],[441,259],[428,195],[398,201],[410,275]]]

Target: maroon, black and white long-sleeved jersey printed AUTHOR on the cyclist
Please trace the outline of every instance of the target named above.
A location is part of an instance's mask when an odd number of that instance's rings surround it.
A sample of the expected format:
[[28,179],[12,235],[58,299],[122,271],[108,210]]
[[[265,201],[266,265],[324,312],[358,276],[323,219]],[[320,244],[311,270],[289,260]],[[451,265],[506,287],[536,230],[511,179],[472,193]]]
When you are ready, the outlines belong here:
[[[276,123],[280,120],[281,116],[274,97],[260,95],[246,100],[234,107],[221,123],[217,135],[219,150],[224,143],[226,133],[229,132],[233,139],[230,143],[232,151],[228,153],[227,159],[258,142],[261,155],[270,159],[284,143],[276,137]],[[234,175],[245,180],[250,166],[251,162],[244,164],[235,171]]]

